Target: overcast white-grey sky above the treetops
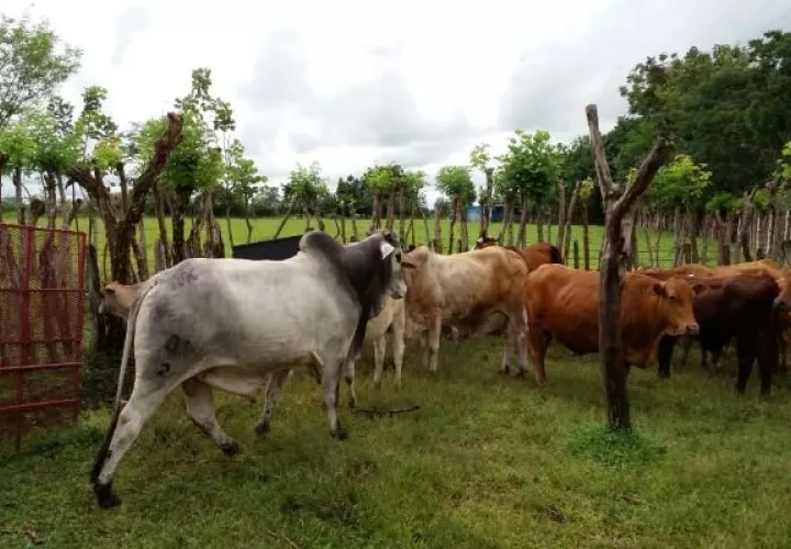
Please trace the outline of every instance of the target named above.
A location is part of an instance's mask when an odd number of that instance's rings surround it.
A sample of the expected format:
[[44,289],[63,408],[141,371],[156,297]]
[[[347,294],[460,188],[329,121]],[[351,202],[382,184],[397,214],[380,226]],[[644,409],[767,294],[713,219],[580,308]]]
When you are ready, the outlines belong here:
[[[791,29],[788,0],[3,0],[83,51],[64,96],[109,90],[125,127],[166,113],[212,69],[237,133],[279,184],[296,163],[338,176],[396,160],[430,176],[516,127],[557,141],[626,112],[617,87],[648,55]],[[79,107],[78,107],[79,108]],[[476,176],[480,181],[480,176]],[[10,186],[3,186],[9,193]],[[434,193],[430,193],[433,199]]]

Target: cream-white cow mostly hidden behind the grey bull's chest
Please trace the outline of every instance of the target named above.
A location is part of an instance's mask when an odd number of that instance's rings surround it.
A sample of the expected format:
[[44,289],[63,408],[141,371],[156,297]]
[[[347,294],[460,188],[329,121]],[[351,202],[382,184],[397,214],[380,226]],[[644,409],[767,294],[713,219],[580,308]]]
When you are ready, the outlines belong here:
[[[393,362],[396,362],[396,385],[401,386],[401,367],[403,366],[404,332],[406,329],[406,311],[404,300],[386,298],[381,313],[368,321],[366,328],[366,343],[374,341],[374,386],[381,384],[381,373],[385,367],[387,351],[387,335],[392,334]],[[349,386],[349,407],[357,405],[357,390],[355,389],[355,362],[359,356],[352,357],[346,362],[346,383]]]

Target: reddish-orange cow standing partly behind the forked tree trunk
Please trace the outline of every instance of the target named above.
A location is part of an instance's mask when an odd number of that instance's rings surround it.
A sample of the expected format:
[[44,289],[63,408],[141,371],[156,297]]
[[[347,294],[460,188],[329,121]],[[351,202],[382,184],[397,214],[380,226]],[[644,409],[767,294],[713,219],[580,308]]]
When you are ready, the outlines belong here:
[[[598,271],[543,265],[525,283],[528,356],[533,371],[546,379],[544,357],[552,339],[575,355],[599,350]],[[626,366],[646,368],[666,334],[697,333],[692,290],[672,277],[667,281],[627,272],[621,293],[621,337]]]

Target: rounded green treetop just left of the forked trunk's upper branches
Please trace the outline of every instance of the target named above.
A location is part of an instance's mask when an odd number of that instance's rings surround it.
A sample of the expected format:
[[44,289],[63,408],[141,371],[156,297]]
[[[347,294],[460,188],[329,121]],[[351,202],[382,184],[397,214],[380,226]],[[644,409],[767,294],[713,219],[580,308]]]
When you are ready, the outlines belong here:
[[531,134],[516,130],[509,139],[509,150],[500,156],[497,183],[502,194],[519,192],[535,204],[547,200],[560,175],[561,157],[558,147],[549,143],[548,132]]

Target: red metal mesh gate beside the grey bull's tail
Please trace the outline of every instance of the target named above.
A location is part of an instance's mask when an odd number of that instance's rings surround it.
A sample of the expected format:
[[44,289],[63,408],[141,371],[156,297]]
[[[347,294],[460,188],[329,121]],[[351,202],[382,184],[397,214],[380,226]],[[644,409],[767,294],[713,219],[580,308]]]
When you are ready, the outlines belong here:
[[77,418],[86,235],[0,224],[0,436]]

